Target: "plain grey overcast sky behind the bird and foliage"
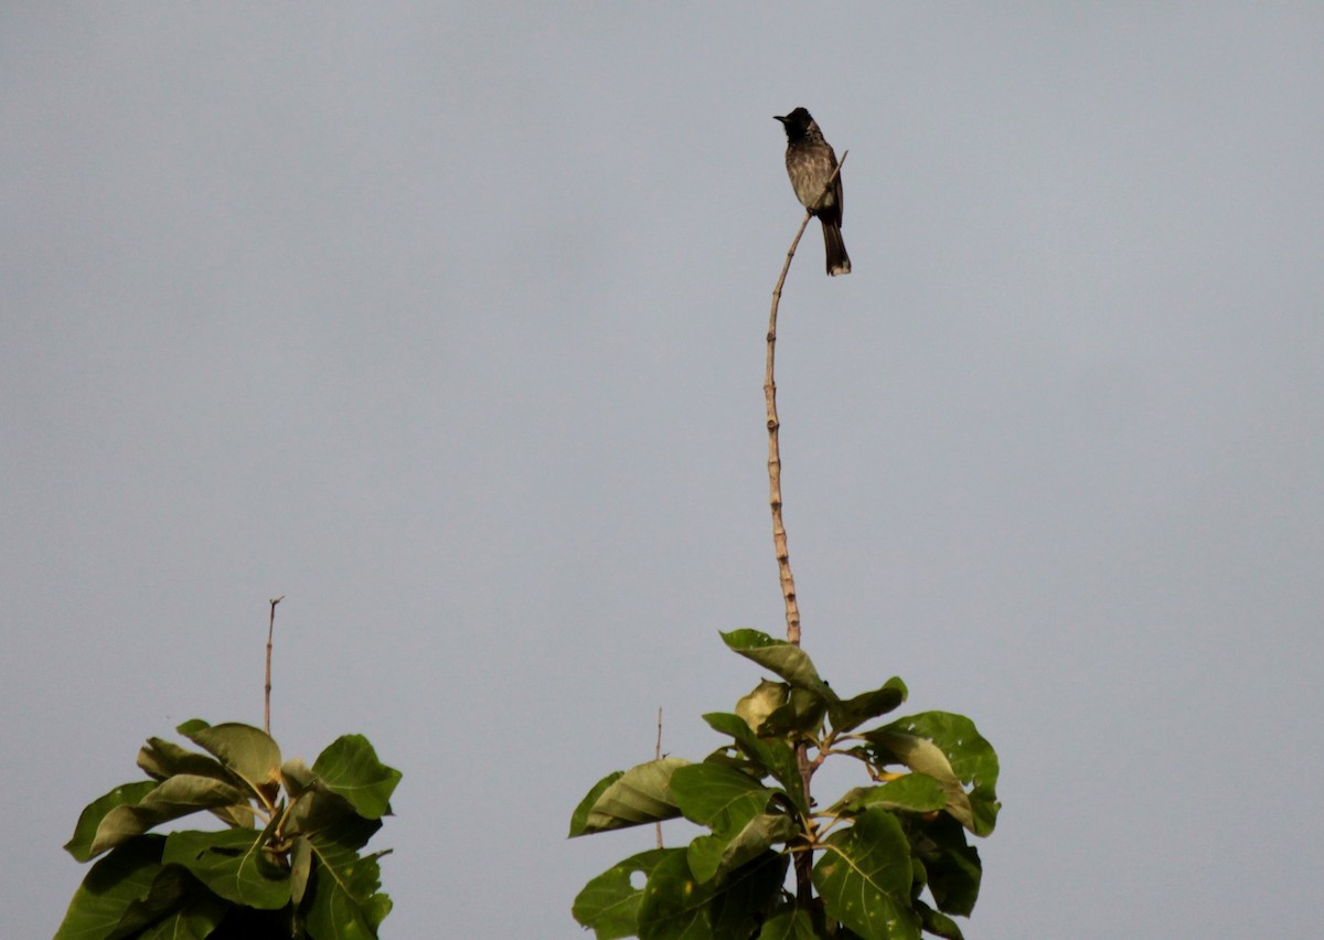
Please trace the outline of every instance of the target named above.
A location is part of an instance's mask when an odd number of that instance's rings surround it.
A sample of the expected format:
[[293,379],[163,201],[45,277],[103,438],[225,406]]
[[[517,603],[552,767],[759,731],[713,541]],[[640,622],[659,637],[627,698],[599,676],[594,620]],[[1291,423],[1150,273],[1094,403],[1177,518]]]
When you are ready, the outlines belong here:
[[804,642],[997,748],[967,936],[1316,933],[1324,11],[993,7],[0,8],[0,932],[143,739],[261,724],[283,594],[286,755],[404,772],[384,936],[581,936],[653,831],[571,810],[785,629],[805,106]]

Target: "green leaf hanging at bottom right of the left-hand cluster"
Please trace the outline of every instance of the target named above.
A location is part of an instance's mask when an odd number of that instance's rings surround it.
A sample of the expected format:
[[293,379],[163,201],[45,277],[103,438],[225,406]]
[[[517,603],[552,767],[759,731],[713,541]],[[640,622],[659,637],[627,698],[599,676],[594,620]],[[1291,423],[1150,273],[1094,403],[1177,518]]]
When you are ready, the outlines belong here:
[[347,817],[310,837],[312,876],[305,895],[308,933],[316,940],[368,940],[391,912],[391,898],[379,891],[387,853],[359,855],[359,849],[381,827],[377,820]]

